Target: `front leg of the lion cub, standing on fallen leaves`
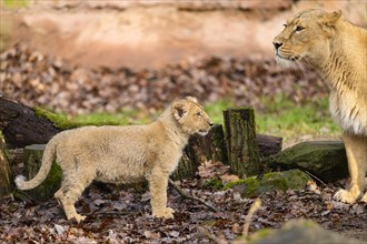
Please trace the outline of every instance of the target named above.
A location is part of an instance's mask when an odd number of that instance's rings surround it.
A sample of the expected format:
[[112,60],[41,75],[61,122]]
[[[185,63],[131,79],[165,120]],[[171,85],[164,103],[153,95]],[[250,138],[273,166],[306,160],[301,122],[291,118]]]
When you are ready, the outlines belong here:
[[147,176],[150,191],[151,212],[155,217],[173,218],[175,211],[167,207],[167,185],[169,172],[153,170]]

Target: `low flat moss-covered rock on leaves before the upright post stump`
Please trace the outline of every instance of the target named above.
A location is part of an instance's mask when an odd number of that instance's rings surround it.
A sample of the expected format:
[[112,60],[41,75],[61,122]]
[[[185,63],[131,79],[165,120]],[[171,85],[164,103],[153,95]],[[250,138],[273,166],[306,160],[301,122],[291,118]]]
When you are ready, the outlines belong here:
[[262,177],[251,176],[230,182],[225,189],[234,189],[242,197],[255,197],[265,192],[302,190],[310,177],[300,170],[266,173]]

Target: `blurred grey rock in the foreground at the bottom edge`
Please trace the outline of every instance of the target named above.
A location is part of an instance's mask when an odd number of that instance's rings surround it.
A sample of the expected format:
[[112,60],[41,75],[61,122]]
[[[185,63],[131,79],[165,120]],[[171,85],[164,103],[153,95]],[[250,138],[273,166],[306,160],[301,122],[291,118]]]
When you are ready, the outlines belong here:
[[[245,237],[239,237],[232,243],[244,243]],[[328,244],[361,244],[363,241],[345,237],[336,232],[323,228],[310,220],[291,220],[280,230],[265,228],[249,237],[254,244],[266,243],[328,243]],[[246,242],[248,243],[248,242]]]

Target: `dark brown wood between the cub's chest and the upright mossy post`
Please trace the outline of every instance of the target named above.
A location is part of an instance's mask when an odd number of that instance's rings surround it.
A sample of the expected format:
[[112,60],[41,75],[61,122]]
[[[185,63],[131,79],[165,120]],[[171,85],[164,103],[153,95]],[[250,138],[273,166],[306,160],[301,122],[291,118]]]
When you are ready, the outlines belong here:
[[205,161],[227,162],[227,150],[221,124],[214,125],[206,136],[192,135],[182,157],[172,173],[173,180],[194,177]]

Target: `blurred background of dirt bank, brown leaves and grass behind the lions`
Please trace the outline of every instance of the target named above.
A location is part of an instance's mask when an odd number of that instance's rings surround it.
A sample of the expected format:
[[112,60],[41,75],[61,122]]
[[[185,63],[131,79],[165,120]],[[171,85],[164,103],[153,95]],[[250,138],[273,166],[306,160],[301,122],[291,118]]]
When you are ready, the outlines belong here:
[[[328,88],[285,70],[271,41],[306,8],[366,28],[364,0],[1,0],[0,95],[70,120],[145,123],[172,100],[251,105],[286,141],[337,136]],[[97,119],[96,119],[97,118]]]

